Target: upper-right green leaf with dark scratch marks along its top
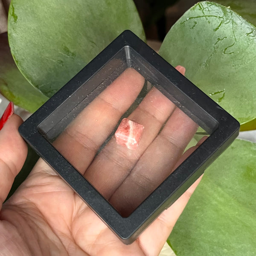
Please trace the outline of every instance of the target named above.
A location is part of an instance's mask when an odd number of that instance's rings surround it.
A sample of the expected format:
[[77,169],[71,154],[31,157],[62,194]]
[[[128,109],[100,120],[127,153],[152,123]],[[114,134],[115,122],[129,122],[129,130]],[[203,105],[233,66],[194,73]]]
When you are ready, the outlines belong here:
[[170,29],[160,55],[241,124],[256,118],[256,27],[218,3],[200,2]]

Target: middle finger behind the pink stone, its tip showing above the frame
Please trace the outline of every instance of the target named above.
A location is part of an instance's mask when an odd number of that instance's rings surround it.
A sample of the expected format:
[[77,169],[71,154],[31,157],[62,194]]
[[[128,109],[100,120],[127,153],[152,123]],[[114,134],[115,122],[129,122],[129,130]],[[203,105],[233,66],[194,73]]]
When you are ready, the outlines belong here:
[[[180,72],[184,67],[178,66]],[[116,143],[113,137],[85,172],[84,177],[105,197],[109,198],[154,140],[175,105],[153,87],[140,105],[128,117],[144,126],[143,135],[136,150]]]

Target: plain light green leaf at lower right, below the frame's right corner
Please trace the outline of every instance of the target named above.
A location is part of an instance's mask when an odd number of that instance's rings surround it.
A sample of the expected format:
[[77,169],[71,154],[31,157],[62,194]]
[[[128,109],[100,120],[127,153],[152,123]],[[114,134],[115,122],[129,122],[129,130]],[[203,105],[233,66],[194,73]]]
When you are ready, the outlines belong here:
[[235,142],[207,169],[168,243],[177,256],[256,252],[256,144]]

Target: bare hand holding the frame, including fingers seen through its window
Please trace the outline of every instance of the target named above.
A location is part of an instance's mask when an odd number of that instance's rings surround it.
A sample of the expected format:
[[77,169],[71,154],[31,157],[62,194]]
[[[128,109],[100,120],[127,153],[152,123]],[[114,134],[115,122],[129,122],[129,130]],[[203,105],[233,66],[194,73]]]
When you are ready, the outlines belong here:
[[[177,70],[185,72],[181,66]],[[153,89],[128,117],[145,127],[138,148],[129,150],[112,138],[95,157],[143,84],[139,73],[126,70],[54,142],[122,215],[129,215],[200,144],[182,155],[197,125]],[[3,204],[26,159],[27,146],[17,130],[21,123],[14,114],[0,131],[0,255],[157,256],[160,253],[199,180],[134,243],[125,245],[42,159]]]

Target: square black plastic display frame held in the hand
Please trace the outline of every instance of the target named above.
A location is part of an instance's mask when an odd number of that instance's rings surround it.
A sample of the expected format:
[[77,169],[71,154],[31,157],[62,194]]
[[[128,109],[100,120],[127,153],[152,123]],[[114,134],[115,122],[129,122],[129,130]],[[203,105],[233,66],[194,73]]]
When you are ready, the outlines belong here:
[[[63,122],[70,122],[68,119],[73,115],[67,113],[78,113],[105,89],[98,87],[102,79],[109,80],[105,84],[110,84],[128,67],[134,67],[210,136],[130,216],[123,218],[53,147],[45,134],[55,137]],[[105,77],[102,77],[102,70]],[[232,143],[239,133],[239,122],[126,30],[30,116],[19,131],[119,239],[130,244]]]

